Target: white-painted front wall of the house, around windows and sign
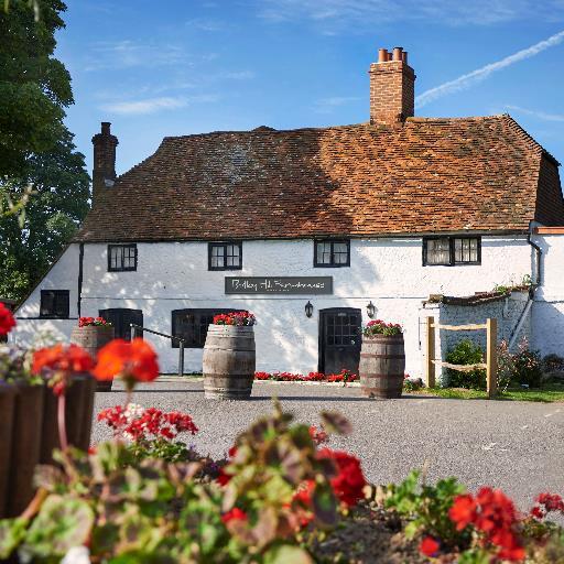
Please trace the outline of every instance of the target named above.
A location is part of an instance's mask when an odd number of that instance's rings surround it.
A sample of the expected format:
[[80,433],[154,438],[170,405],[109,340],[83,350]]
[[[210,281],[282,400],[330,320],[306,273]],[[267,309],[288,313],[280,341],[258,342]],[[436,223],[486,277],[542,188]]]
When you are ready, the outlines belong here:
[[[313,268],[313,241],[243,241],[243,269],[209,272],[207,243],[138,243],[135,272],[107,272],[107,245],[85,245],[82,315],[97,315],[107,307],[143,311],[144,326],[171,333],[171,311],[184,307],[248,308],[259,321],[256,329],[258,369],[307,372],[317,369],[318,311],[358,307],[366,317],[372,301],[377,317],[405,327],[406,370],[421,373],[419,308],[431,293],[467,295],[491,290],[496,283],[520,281],[531,273],[531,248],[524,237],[482,237],[481,265],[423,267],[422,240],[351,240],[350,268]],[[334,278],[327,296],[231,296],[224,293],[226,275],[300,275]],[[76,316],[78,247],[73,245],[40,288],[18,311],[19,317],[39,314],[39,290],[70,290]],[[304,306],[315,307],[306,318]],[[15,339],[29,341],[39,326],[56,326],[69,335],[76,323],[19,319]],[[176,371],[177,349],[170,341],[147,336],[161,356],[162,370]],[[186,350],[186,370],[200,370],[202,350]]]

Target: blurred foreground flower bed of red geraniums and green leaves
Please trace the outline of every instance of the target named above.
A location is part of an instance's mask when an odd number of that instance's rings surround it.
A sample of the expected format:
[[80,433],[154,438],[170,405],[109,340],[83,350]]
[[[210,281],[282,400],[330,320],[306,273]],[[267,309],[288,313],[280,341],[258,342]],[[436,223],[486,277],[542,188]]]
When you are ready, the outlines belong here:
[[[40,375],[48,373],[64,405],[72,372],[94,361],[77,347],[57,346],[36,352],[33,365]],[[39,466],[32,502],[20,517],[0,520],[0,558],[564,562],[564,529],[546,520],[551,513],[564,516],[558,495],[541,494],[521,514],[500,490],[467,492],[455,478],[429,484],[417,470],[399,485],[375,487],[357,457],[328,446],[332,435],[351,432],[343,415],[323,412],[319,427],[304,425],[278,402],[272,415],[238,435],[224,459],[212,460],[177,441],[198,431],[188,414],[130,401],[137,382],[159,373],[150,345],[115,340],[91,371],[126,382],[126,404],[98,416],[115,438],[88,453],[68,447],[61,412],[58,466]]]

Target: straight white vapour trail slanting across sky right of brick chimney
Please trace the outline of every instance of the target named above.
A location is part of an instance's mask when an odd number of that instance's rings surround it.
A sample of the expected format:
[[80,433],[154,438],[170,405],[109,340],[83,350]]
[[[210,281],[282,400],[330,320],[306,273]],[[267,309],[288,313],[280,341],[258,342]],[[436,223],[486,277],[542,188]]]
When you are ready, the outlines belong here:
[[427,104],[431,104],[432,101],[435,101],[436,99],[442,98],[443,96],[459,90],[465,90],[466,88],[469,88],[474,84],[486,79],[492,73],[501,70],[502,68],[506,68],[508,66],[514,65],[516,63],[519,63],[520,61],[523,61],[525,58],[534,57],[539,53],[542,53],[543,51],[550,47],[558,45],[563,41],[564,31],[561,31],[558,33],[555,33],[554,35],[551,35],[549,39],[544,41],[540,41],[539,43],[535,43],[530,47],[518,51],[517,53],[513,53],[512,55],[509,55],[500,61],[496,61],[495,63],[485,65],[480,68],[477,68],[476,70],[473,70],[471,73],[462,75],[458,78],[455,78],[454,80],[448,80],[447,83],[431,88],[415,98],[415,107],[422,108],[423,106],[426,106]]

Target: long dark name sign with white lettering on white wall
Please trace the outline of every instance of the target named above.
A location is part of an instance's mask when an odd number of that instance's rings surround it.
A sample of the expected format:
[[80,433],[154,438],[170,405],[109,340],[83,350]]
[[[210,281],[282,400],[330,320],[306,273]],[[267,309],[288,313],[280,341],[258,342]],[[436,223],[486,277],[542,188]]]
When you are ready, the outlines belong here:
[[226,294],[333,294],[333,276],[226,276]]

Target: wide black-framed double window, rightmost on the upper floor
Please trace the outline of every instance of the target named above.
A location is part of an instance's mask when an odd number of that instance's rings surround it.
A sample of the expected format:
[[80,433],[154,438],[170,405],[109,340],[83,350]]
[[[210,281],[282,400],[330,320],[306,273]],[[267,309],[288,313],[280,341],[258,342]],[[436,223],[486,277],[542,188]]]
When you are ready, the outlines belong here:
[[480,263],[480,237],[430,237],[423,239],[423,265],[425,267]]

